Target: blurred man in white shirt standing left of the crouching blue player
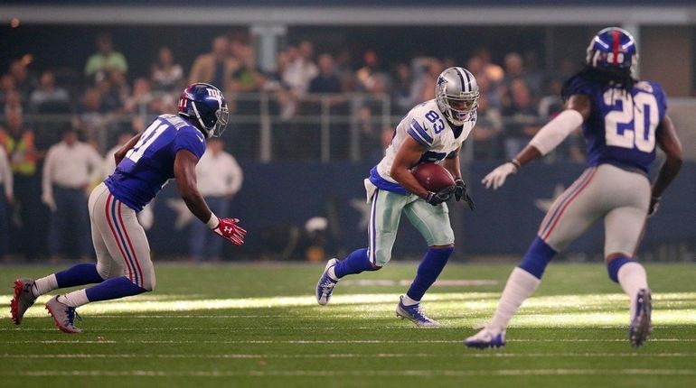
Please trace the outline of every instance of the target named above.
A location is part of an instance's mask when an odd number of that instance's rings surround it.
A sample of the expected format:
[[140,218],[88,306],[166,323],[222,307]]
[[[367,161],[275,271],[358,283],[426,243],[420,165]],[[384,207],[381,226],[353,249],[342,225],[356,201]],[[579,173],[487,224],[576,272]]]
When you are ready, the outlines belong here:
[[80,258],[91,255],[87,190],[102,175],[101,157],[87,143],[78,141],[77,132],[67,126],[60,143],[54,144],[43,164],[42,201],[51,211],[48,252],[52,258],[61,245],[70,241]]

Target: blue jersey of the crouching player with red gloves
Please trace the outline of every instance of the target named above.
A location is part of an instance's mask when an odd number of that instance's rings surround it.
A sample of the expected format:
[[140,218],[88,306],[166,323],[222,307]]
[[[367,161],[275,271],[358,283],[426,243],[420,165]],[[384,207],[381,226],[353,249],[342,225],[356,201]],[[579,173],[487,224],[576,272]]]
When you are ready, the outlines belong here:
[[201,159],[205,137],[178,115],[160,115],[104,183],[116,199],[140,211],[174,178],[174,158],[180,150]]

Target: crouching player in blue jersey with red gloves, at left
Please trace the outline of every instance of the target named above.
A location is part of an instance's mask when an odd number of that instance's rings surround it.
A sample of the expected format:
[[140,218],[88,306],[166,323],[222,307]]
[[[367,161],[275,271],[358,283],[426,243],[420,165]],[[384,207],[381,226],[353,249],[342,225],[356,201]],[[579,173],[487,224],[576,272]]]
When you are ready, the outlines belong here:
[[195,83],[183,90],[178,115],[159,115],[114,155],[117,169],[89,196],[89,219],[97,263],[80,263],[41,279],[14,282],[11,312],[19,325],[39,296],[66,287],[95,286],[53,297],[46,303],[58,328],[80,333],[76,308],[92,301],[113,300],[155,289],[150,246],[136,213],[174,178],[186,206],[215,233],[235,245],[246,231],[239,219],[212,214],[196,188],[195,166],[205,152],[205,139],[225,130],[228,108],[221,91]]

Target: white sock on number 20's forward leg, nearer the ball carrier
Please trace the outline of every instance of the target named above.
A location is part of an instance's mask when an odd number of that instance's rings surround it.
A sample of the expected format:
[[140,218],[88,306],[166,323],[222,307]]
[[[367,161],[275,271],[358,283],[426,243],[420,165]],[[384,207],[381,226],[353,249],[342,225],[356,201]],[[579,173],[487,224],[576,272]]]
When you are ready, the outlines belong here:
[[503,295],[501,295],[500,301],[498,301],[498,307],[495,309],[493,319],[491,319],[491,323],[488,324],[487,328],[500,331],[507,328],[507,324],[513,318],[517,309],[520,308],[522,302],[536,291],[540,283],[541,279],[522,270],[520,267],[515,267],[507,280],[507,284],[505,284]]

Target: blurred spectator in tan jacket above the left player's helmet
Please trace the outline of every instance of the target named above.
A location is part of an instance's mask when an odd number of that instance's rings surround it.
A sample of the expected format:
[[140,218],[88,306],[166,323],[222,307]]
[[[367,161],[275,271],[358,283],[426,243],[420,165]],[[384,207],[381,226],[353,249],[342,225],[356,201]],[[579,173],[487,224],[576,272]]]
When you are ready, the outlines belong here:
[[239,63],[230,56],[230,42],[225,36],[212,40],[212,51],[193,61],[189,83],[205,82],[225,91]]

